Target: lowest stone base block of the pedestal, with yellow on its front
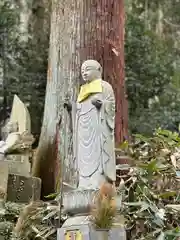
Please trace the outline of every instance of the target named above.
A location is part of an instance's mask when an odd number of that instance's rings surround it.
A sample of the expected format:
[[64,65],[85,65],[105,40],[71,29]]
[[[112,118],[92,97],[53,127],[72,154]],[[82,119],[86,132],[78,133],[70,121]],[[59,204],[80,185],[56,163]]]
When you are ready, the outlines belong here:
[[62,228],[57,230],[57,240],[126,240],[126,231],[122,226],[111,230],[96,230],[88,217],[77,216],[68,219]]

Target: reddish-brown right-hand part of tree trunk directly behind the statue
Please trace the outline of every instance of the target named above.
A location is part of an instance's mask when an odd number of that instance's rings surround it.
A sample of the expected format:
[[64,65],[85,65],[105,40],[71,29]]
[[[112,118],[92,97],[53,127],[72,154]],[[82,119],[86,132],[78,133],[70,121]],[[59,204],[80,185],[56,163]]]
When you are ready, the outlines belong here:
[[98,60],[103,78],[112,84],[116,96],[116,143],[128,134],[128,112],[124,75],[124,0],[84,1],[81,19],[81,62]]

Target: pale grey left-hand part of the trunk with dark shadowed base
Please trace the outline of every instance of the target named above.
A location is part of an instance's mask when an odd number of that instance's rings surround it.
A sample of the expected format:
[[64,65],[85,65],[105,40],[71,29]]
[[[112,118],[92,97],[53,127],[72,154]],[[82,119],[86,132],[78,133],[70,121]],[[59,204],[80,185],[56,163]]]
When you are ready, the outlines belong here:
[[[63,176],[69,183],[73,175],[72,134],[63,108],[66,95],[74,101],[79,83],[79,0],[53,1],[49,67],[44,118],[32,175],[42,179],[42,197],[55,191],[59,161],[64,162]],[[57,121],[60,121],[57,133]],[[58,154],[57,152],[58,136]],[[60,156],[60,160],[59,160]],[[56,179],[57,180],[57,179]]]

